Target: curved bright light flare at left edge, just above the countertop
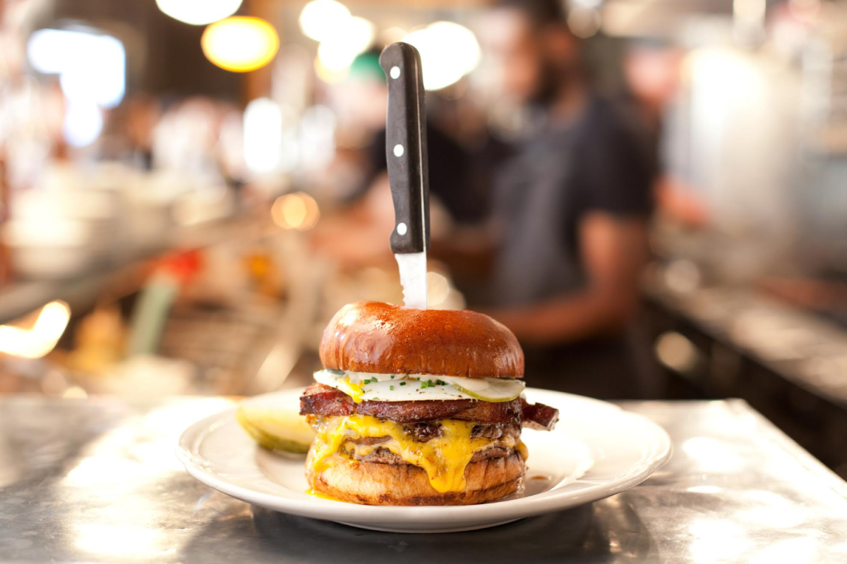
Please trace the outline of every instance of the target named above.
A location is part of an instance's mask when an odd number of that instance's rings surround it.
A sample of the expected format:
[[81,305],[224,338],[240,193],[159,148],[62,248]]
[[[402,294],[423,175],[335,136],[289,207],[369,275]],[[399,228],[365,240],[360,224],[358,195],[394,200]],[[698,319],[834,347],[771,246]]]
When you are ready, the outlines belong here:
[[0,326],[0,353],[25,359],[40,359],[53,350],[70,319],[70,308],[64,302],[50,302],[38,314],[31,329]]

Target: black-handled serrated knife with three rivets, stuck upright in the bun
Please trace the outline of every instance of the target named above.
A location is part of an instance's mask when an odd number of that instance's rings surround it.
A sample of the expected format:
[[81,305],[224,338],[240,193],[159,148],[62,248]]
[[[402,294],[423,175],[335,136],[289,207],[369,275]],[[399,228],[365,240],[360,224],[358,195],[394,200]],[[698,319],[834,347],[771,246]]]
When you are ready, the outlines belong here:
[[421,57],[407,43],[392,43],[379,55],[379,65],[388,79],[385,157],[395,216],[391,251],[400,267],[403,303],[426,309],[429,171]]

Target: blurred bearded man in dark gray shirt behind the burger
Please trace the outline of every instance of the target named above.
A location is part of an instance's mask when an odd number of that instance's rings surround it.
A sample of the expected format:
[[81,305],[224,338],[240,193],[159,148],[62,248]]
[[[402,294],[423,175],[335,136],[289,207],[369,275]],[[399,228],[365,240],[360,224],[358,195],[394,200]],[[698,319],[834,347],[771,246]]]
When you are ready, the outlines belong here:
[[531,386],[644,396],[630,326],[655,162],[633,120],[591,89],[561,2],[500,0],[483,23],[496,94],[525,118],[496,169],[493,235],[466,241],[490,257],[477,298],[522,342]]

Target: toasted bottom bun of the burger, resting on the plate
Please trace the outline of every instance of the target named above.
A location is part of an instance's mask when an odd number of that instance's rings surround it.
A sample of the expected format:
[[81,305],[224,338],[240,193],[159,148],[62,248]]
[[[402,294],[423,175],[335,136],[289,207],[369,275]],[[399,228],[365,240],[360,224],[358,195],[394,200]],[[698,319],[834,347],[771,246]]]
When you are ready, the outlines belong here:
[[317,490],[341,501],[379,506],[472,505],[499,500],[523,485],[525,465],[518,452],[487,458],[465,467],[465,488],[439,493],[429,484],[424,468],[412,464],[364,463],[338,454],[329,468],[313,480],[312,451],[306,478]]

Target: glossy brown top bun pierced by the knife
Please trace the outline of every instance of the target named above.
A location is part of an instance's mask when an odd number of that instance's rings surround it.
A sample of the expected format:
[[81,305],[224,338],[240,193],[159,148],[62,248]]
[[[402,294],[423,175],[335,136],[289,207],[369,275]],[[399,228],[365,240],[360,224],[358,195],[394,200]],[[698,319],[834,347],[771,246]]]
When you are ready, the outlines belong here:
[[518,339],[488,315],[382,302],[339,309],[324,329],[320,359],[352,372],[523,378]]

